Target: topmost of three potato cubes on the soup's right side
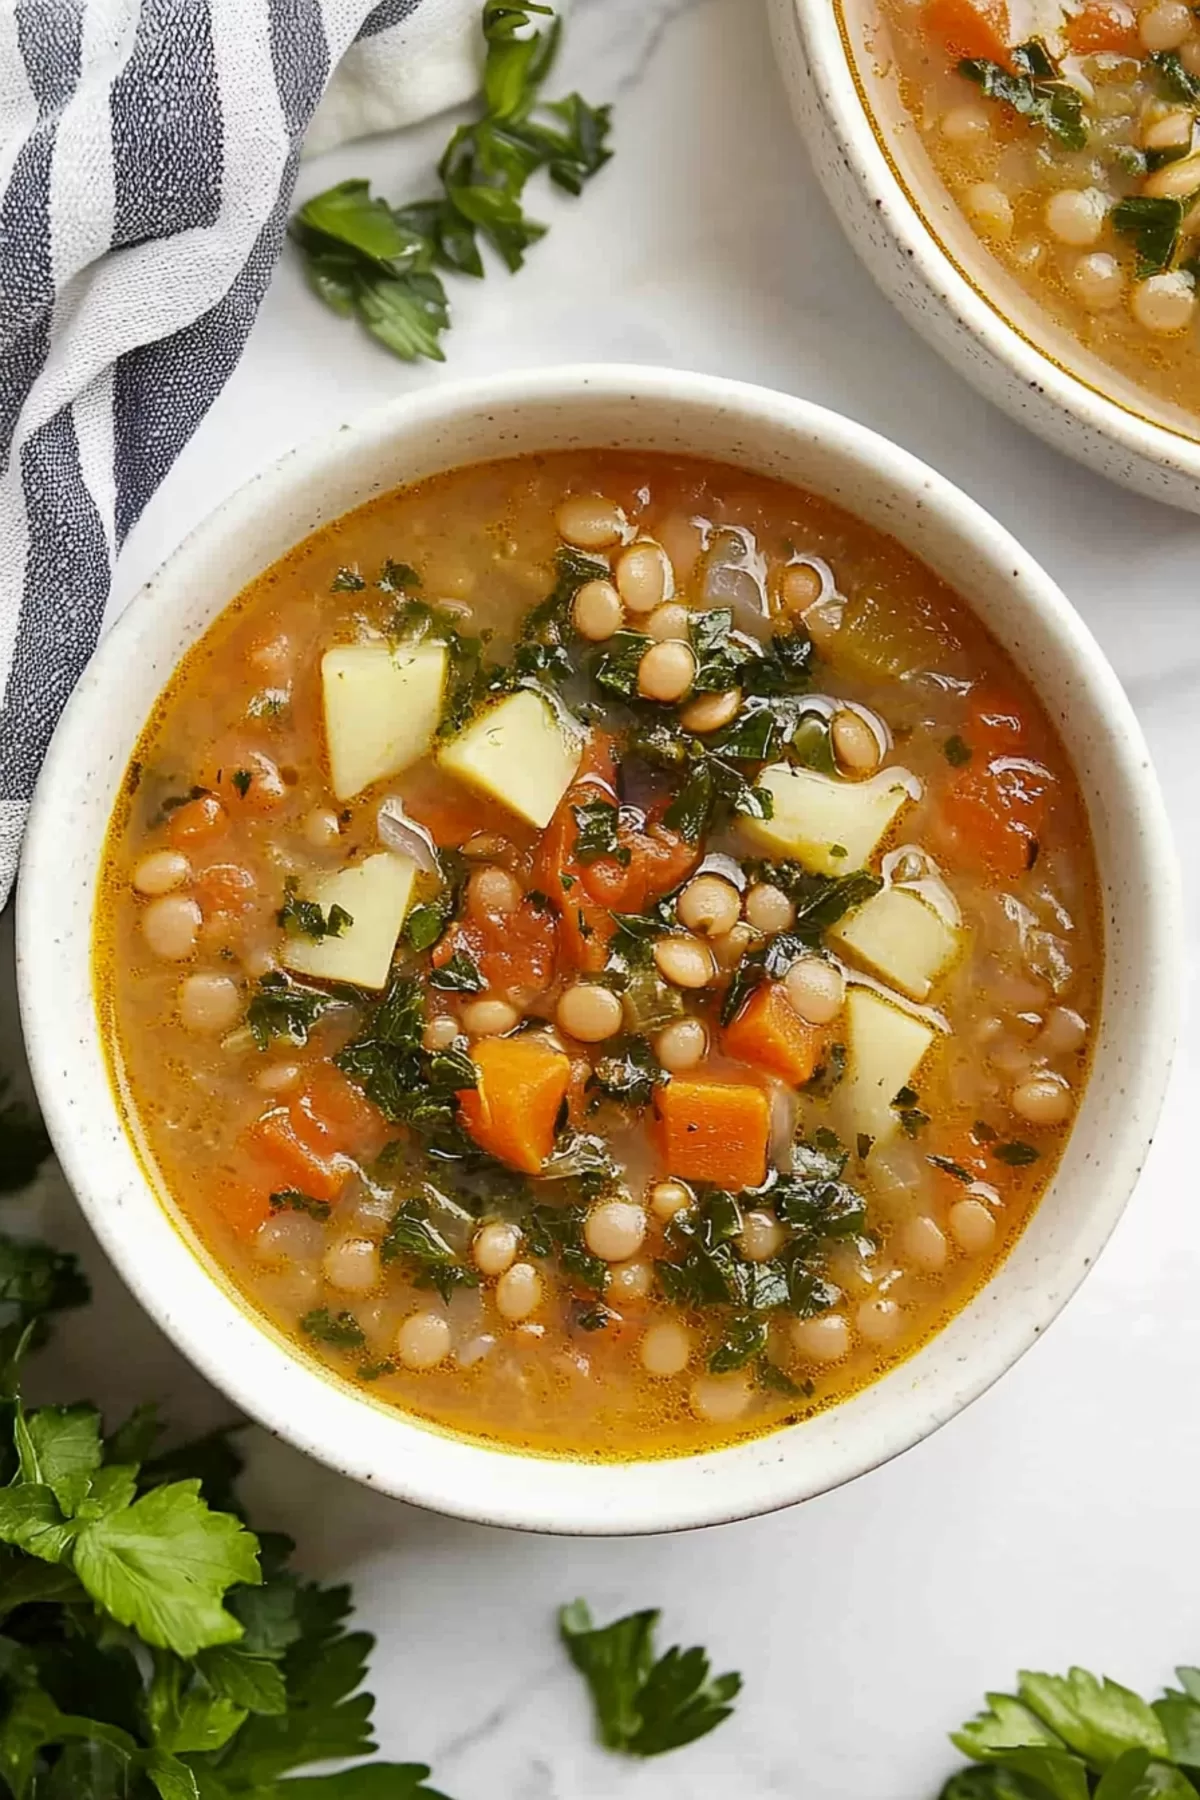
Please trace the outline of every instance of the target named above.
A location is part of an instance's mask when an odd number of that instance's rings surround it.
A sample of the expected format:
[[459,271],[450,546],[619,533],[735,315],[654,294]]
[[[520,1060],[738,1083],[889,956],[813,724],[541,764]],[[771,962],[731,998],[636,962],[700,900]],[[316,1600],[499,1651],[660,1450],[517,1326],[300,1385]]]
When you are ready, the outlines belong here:
[[774,814],[743,819],[747,837],[774,855],[797,857],[815,875],[860,869],[892,819],[921,792],[907,769],[842,781],[792,763],[772,763],[756,785],[770,794]]

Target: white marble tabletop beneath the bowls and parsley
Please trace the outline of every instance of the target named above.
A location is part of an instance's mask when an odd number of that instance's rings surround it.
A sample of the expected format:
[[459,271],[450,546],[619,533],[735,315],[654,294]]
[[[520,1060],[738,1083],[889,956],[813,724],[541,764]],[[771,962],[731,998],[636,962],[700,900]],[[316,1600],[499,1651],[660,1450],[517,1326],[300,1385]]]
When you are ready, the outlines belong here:
[[[567,358],[711,369],[811,396],[954,475],[1061,581],[1142,716],[1200,898],[1200,520],[1135,500],[1024,436],[892,317],[806,167],[757,0],[581,0],[565,79],[617,101],[610,169],[549,198],[516,279],[455,286],[446,369],[407,369],[333,320],[286,263],[248,351],[139,526],[128,596],[268,459],[389,394]],[[342,151],[304,189],[371,173],[416,191],[444,122]],[[542,205],[542,196],[538,196]],[[1180,972],[1195,992],[1195,949]],[[455,1800],[921,1800],[945,1733],[1018,1665],[1135,1685],[1200,1654],[1200,1229],[1189,1026],[1159,1141],[1112,1246],[1049,1336],[964,1417],[838,1494],[676,1539],[570,1543],[389,1503],[252,1445],[257,1514],[354,1580],[380,1633],[385,1750]],[[81,1237],[63,1201],[56,1229]],[[219,1406],[101,1271],[52,1352],[56,1386]],[[644,1766],[588,1741],[552,1607],[657,1602],[745,1672],[732,1723]]]

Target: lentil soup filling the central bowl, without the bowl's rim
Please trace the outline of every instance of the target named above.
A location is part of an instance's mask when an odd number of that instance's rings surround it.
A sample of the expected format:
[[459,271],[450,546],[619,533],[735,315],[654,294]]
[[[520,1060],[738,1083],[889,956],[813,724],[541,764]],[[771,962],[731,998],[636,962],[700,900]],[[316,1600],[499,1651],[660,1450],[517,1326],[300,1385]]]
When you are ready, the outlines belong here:
[[246,1305],[475,1438],[664,1456],[846,1399],[1004,1258],[1097,1022],[1085,808],[892,540],[714,463],[387,495],[185,659],[97,1003]]

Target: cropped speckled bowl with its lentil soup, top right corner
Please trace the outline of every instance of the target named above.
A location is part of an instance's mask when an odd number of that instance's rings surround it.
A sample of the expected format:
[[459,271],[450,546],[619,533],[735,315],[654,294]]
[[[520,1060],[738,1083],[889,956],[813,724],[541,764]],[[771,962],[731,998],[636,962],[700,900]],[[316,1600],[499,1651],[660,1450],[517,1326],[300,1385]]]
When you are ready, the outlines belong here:
[[[1056,448],[1196,511],[1200,351],[1177,193],[1195,20],[1141,11],[1146,41],[1124,0],[772,4],[817,173],[907,319]],[[1178,14],[1173,50],[1150,49],[1169,34],[1159,11]]]

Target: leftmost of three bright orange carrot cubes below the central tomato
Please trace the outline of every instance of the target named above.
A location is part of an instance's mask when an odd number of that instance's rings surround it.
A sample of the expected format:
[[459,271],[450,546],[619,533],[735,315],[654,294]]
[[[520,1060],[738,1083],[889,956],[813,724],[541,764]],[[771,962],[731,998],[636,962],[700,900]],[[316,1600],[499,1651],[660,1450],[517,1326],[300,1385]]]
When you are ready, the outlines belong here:
[[531,1037],[486,1037],[471,1049],[479,1087],[459,1094],[459,1112],[480,1150],[536,1175],[554,1148],[570,1062]]

